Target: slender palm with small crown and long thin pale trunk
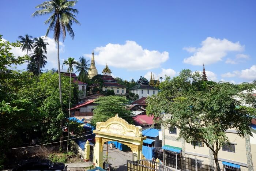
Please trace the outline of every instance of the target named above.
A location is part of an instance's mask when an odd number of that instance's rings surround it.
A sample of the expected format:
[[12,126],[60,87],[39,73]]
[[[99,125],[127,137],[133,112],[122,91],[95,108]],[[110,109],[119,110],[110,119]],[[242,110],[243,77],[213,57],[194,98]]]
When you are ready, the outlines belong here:
[[[71,72],[74,71],[73,67],[79,63],[75,61],[75,58],[69,57],[68,60],[64,60],[64,65],[68,65],[69,75],[69,118],[68,118],[68,138],[69,138],[69,119],[70,119],[70,99],[71,99]],[[68,143],[67,143],[67,153],[68,153]]]

